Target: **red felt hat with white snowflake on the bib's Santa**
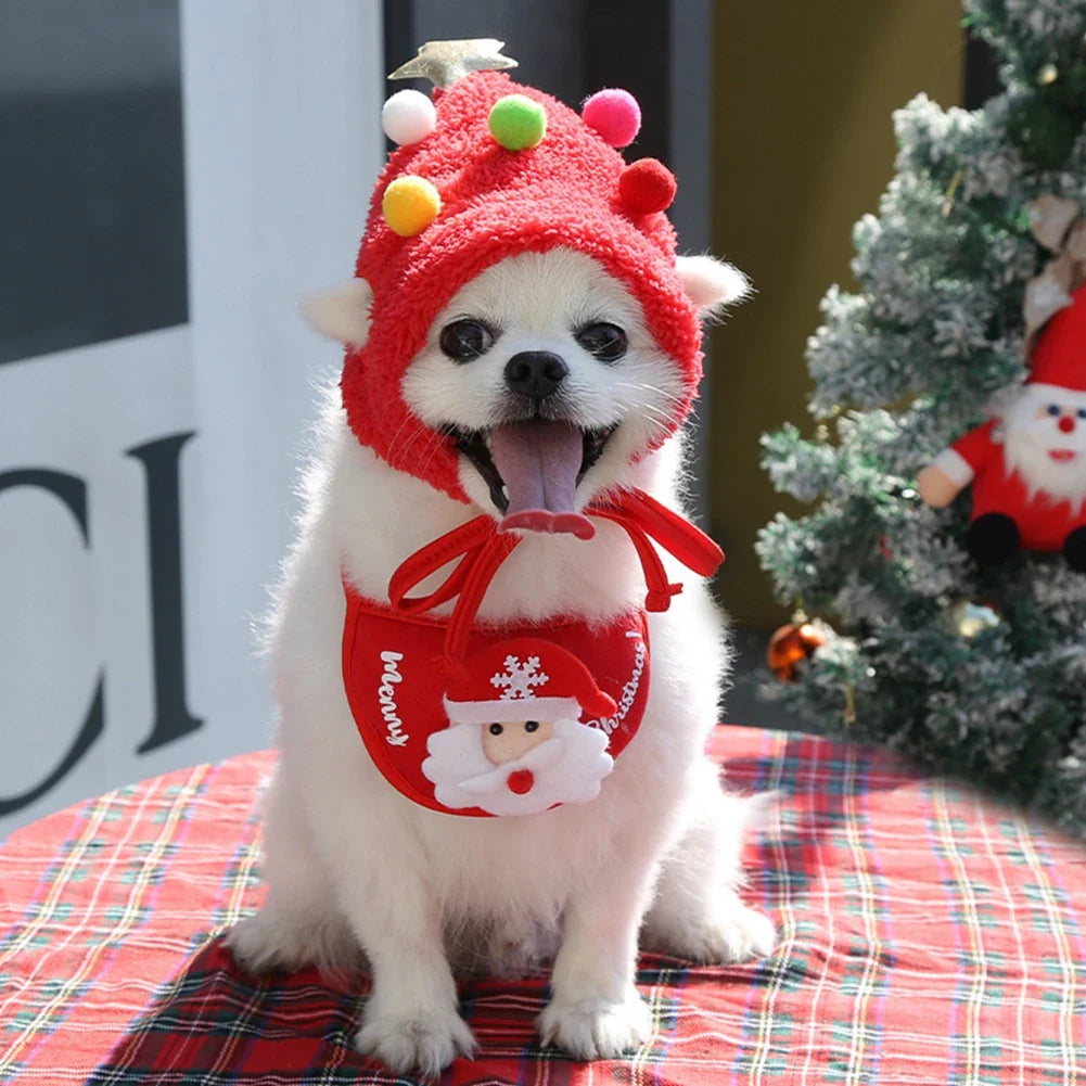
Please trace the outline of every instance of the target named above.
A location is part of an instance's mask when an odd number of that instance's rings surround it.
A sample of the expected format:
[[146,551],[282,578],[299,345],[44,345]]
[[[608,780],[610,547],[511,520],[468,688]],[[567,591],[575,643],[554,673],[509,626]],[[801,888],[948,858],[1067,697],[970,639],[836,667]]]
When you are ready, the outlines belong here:
[[445,692],[454,724],[610,717],[616,706],[572,653],[538,637],[502,641],[469,657]]

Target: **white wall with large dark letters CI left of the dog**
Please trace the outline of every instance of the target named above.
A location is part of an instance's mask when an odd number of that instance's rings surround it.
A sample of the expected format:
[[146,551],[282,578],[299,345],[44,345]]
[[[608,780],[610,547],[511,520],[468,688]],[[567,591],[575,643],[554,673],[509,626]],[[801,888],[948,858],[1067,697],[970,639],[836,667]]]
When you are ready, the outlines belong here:
[[0,367],[0,835],[272,734],[250,620],[339,362],[296,300],[353,265],[380,4],[180,13],[190,323]]

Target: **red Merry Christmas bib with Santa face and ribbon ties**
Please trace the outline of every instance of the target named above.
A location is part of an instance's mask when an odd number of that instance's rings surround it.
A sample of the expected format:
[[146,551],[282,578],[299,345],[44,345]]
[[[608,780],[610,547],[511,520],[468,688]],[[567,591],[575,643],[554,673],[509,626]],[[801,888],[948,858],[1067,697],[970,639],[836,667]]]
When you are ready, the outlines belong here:
[[[648,586],[645,610],[667,610],[682,591],[668,582],[651,540],[704,577],[723,559],[712,540],[641,491],[586,512],[629,535]],[[344,579],[343,684],[358,734],[384,779],[431,810],[532,815],[588,803],[645,712],[645,610],[605,627],[476,622],[520,539],[485,515],[454,528],[393,573],[391,607]],[[408,595],[450,565],[429,595]],[[432,616],[453,599],[447,619]]]

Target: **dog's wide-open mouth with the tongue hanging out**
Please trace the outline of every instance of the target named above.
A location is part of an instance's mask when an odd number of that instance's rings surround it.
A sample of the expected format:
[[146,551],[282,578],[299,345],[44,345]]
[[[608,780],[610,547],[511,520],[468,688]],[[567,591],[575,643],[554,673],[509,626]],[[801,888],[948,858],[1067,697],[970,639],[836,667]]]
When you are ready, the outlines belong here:
[[500,530],[595,534],[592,521],[574,507],[577,484],[603,455],[618,424],[582,430],[571,422],[526,419],[492,430],[450,433],[504,514]]

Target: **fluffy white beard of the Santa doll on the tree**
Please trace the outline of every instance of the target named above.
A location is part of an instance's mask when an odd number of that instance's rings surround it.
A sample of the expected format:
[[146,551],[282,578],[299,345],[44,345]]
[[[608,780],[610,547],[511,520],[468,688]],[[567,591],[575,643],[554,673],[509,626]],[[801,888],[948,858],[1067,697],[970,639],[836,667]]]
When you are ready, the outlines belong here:
[[[1059,419],[1037,418],[1037,408],[1053,402],[1047,394],[1023,394],[1003,415],[1003,457],[1018,471],[1030,496],[1048,495],[1053,502],[1086,502],[1086,424],[1076,419],[1072,433],[1063,433]],[[1056,460],[1053,450],[1072,450],[1074,459]]]

